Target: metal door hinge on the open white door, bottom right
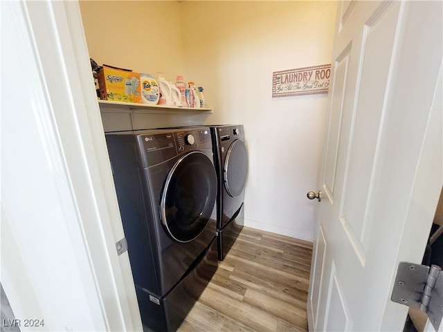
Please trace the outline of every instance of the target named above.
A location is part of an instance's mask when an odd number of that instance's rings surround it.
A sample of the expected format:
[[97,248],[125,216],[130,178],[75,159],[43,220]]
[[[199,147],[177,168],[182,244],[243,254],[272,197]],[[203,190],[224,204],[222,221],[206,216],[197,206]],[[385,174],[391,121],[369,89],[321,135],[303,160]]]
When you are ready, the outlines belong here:
[[437,331],[443,317],[442,269],[401,261],[390,299],[424,311]]

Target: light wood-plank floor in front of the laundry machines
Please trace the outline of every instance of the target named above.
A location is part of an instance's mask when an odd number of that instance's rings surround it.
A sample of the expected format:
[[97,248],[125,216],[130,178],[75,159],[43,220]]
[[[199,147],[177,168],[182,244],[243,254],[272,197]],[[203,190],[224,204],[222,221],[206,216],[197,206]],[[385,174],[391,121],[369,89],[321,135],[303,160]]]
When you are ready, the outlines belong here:
[[312,243],[244,227],[178,331],[307,331]]

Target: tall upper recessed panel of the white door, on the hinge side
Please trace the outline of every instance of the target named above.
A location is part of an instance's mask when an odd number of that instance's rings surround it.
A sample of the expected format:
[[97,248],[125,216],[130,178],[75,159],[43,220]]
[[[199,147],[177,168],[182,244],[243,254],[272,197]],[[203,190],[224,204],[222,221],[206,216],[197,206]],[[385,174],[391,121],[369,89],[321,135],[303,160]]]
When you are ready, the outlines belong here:
[[[366,207],[370,199],[372,176],[377,163],[379,131],[383,124],[384,97],[388,86],[392,47],[399,6],[383,6],[362,28],[363,42],[359,67],[361,67],[356,107],[354,107],[352,133],[349,142],[347,172],[343,179],[343,207],[340,212],[341,224],[348,241],[353,243],[361,264],[365,264],[368,237]],[[383,56],[380,56],[380,49]]]

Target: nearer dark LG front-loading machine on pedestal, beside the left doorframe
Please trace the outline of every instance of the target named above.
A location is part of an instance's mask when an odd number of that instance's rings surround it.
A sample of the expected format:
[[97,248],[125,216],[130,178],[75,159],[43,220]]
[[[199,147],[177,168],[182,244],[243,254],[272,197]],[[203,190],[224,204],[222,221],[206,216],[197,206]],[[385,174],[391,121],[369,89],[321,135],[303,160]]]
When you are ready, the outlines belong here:
[[210,129],[105,137],[143,328],[175,331],[217,269]]

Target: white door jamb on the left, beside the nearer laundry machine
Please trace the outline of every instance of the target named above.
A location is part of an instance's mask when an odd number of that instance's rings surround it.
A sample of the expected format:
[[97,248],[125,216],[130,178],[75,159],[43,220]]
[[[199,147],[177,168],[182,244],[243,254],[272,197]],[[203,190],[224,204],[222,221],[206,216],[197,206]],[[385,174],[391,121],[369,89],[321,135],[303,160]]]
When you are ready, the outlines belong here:
[[[80,156],[78,154],[70,156],[72,151],[70,147],[66,149],[66,158],[71,157],[69,165],[75,167],[71,169],[71,174],[77,177],[73,181],[76,196],[84,200],[81,210],[87,216],[82,217],[82,220],[89,239],[89,248],[93,248],[91,255],[99,291],[102,299],[106,298],[103,303],[105,317],[111,330],[140,331],[141,318],[127,252],[118,256],[114,245],[124,237],[124,233],[93,85],[80,8],[77,1],[54,2],[52,5],[57,28],[61,32],[60,41],[63,43],[62,56],[66,61],[66,82],[71,88],[71,96],[74,96],[72,127],[76,127],[78,134],[76,141],[84,158],[84,174],[77,173],[78,164],[75,164],[75,160],[80,159]],[[66,110],[59,109],[59,111],[63,116]],[[62,140],[65,140],[66,145],[71,145],[73,137],[66,131],[61,132]],[[86,178],[88,182],[84,181]],[[90,192],[90,197],[86,199],[84,193],[87,191]],[[97,218],[96,223],[91,222],[91,216]]]

